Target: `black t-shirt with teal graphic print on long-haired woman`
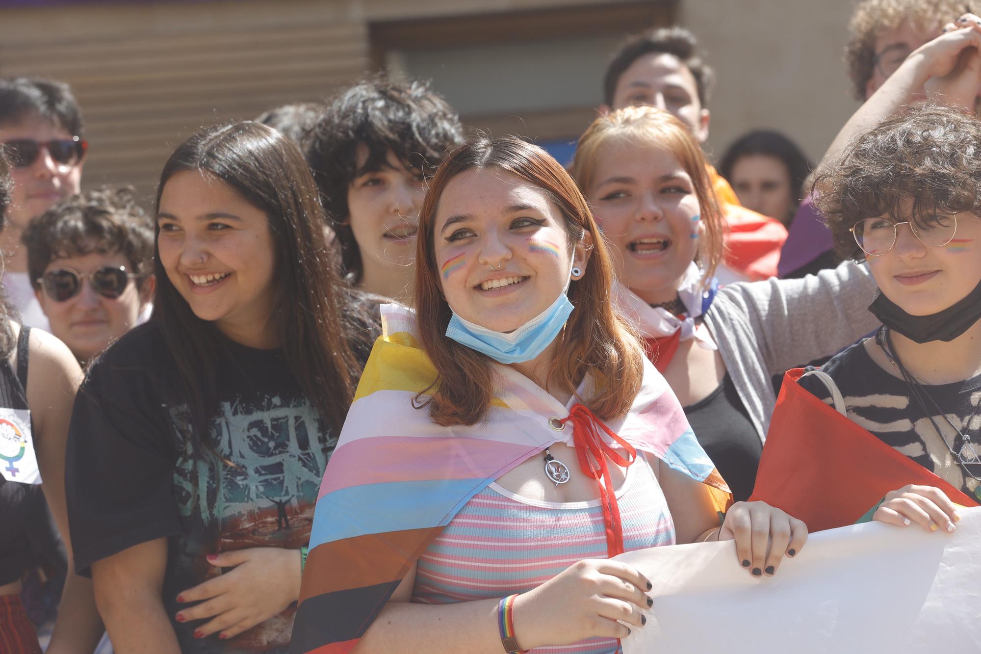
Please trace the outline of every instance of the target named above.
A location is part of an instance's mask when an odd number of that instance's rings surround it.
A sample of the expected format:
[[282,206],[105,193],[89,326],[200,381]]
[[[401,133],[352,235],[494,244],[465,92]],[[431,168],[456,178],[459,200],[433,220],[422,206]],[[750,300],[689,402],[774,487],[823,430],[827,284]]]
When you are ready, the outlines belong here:
[[[286,652],[295,605],[230,640],[195,639],[177,596],[232,568],[207,555],[309,542],[332,433],[279,350],[220,344],[217,457],[194,452],[177,369],[156,323],[136,328],[90,369],[72,416],[67,496],[76,566],[168,539],[163,601],[182,652]],[[361,363],[365,352],[360,353]],[[224,461],[222,461],[224,460]],[[298,558],[297,558],[298,561]]]

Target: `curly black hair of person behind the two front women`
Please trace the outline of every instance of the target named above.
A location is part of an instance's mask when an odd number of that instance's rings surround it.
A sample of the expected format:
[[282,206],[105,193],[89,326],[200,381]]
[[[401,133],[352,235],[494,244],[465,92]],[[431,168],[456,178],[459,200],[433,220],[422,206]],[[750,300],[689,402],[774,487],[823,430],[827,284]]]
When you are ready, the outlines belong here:
[[[354,180],[380,170],[389,150],[410,170],[429,176],[463,140],[459,116],[425,82],[359,82],[331,101],[304,143],[350,282],[358,283],[362,274],[361,252],[347,224],[347,190]],[[360,168],[359,145],[368,148]]]

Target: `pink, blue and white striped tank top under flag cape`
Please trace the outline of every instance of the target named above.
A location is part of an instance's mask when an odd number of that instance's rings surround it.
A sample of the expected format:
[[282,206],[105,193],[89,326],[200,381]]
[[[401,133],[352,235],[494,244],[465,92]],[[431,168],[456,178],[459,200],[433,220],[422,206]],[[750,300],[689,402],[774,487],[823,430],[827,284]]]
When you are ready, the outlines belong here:
[[[674,522],[643,456],[616,491],[626,551],[673,545]],[[491,483],[467,502],[419,558],[412,601],[452,604],[522,593],[583,559],[605,559],[599,500],[542,502]],[[609,654],[614,638],[539,647],[535,654]]]

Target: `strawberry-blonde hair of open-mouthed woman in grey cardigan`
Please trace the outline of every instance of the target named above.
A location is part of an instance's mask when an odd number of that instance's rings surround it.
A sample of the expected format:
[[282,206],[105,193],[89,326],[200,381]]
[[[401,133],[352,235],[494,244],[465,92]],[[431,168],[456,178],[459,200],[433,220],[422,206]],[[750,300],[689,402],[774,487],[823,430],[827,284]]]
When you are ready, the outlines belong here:
[[708,282],[725,254],[722,237],[726,223],[712,188],[708,161],[697,139],[684,123],[656,107],[624,107],[599,116],[579,137],[576,157],[572,162],[572,176],[584,192],[593,186],[599,150],[621,143],[664,148],[674,155],[692,178],[701,224],[705,227],[698,238],[696,257],[701,267],[702,281]]

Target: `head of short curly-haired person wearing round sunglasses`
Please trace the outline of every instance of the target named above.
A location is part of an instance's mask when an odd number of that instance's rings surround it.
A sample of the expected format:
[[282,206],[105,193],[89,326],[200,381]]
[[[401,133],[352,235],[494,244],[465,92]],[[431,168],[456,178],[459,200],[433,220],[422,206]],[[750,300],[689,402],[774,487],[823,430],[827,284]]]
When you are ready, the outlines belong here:
[[149,313],[153,221],[131,188],[73,195],[32,220],[23,240],[51,333],[82,364]]

